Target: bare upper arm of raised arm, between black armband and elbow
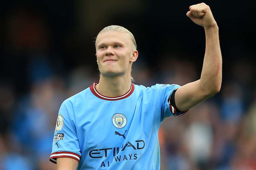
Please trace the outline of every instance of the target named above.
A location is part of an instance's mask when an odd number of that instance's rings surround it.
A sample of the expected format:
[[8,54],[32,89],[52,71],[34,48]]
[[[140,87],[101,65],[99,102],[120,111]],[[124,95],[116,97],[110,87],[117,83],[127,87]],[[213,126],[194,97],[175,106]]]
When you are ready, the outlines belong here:
[[197,80],[177,89],[175,93],[175,104],[180,111],[187,111],[216,93],[203,90],[200,80]]

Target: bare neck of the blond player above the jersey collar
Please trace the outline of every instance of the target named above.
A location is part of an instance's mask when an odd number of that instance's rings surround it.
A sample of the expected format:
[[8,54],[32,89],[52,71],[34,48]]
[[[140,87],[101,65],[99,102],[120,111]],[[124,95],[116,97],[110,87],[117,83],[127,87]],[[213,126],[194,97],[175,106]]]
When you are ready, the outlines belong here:
[[131,76],[120,75],[107,77],[100,75],[99,84],[95,86],[96,90],[108,97],[117,97],[124,95],[131,88]]

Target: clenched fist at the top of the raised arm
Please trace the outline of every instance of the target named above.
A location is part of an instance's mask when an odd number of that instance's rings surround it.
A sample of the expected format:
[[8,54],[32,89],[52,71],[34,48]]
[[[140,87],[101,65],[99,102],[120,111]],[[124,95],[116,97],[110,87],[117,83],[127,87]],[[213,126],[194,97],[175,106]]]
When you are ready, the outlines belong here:
[[205,28],[217,25],[213,18],[210,7],[205,3],[192,5],[189,7],[189,10],[190,11],[187,12],[187,16],[197,25]]

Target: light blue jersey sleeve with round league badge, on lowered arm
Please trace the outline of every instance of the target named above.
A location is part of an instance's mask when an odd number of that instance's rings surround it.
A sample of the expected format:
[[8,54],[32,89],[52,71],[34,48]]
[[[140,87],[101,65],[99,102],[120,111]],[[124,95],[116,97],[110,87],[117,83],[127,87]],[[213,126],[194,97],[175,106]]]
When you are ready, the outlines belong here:
[[61,157],[73,158],[79,162],[81,153],[75,128],[73,105],[65,100],[57,117],[50,161],[57,163]]

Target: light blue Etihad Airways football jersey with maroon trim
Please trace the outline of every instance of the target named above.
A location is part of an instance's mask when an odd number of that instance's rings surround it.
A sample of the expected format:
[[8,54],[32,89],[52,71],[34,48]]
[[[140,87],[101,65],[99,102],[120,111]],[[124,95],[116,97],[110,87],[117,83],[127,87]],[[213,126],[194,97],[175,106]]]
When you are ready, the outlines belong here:
[[74,158],[79,170],[159,170],[158,129],[165,117],[184,113],[169,102],[180,86],[131,83],[126,94],[106,97],[96,84],[62,103],[50,161]]

